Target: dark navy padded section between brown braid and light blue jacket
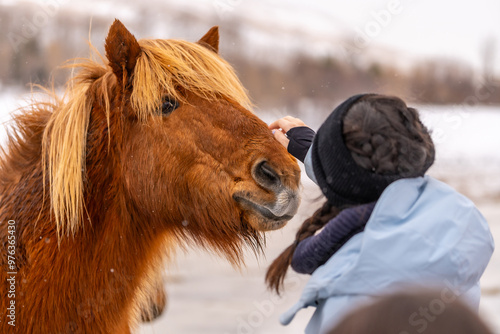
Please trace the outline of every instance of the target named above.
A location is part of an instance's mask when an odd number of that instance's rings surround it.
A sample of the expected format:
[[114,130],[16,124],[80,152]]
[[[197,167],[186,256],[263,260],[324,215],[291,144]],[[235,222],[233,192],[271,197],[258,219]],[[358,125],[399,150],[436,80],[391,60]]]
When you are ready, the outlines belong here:
[[353,235],[364,230],[375,203],[342,210],[320,233],[302,240],[293,253],[293,270],[301,274],[312,274]]

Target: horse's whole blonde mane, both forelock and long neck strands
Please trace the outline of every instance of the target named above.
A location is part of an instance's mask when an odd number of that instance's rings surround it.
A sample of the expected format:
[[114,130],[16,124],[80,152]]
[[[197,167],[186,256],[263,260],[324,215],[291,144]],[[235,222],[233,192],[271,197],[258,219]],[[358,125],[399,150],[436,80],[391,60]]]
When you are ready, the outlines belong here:
[[[165,96],[189,103],[179,87],[209,100],[225,98],[251,109],[247,91],[234,70],[212,50],[181,40],[140,40],[139,45],[142,52],[132,77],[130,102],[140,121],[159,114]],[[68,81],[64,98],[52,93],[56,102],[50,108],[53,113],[42,141],[44,185],[48,175],[59,240],[75,235],[85,217],[86,143],[92,106],[103,106],[109,127],[114,112],[110,110],[110,94],[121,89],[111,68],[92,57],[71,67],[79,71]]]

